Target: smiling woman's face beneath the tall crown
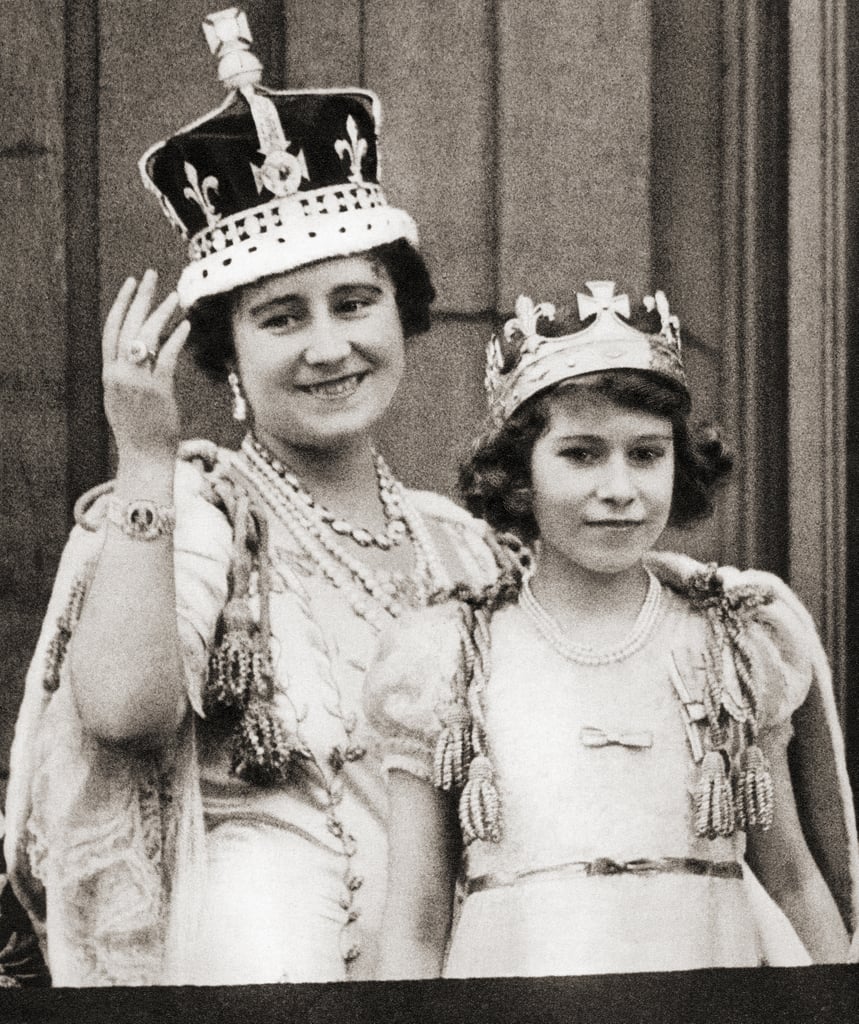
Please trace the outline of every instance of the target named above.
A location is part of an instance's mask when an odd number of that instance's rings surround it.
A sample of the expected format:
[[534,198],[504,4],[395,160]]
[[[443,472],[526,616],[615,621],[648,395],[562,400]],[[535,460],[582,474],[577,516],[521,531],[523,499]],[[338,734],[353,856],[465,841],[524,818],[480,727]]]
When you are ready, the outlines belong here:
[[363,256],[242,289],[232,337],[257,432],[290,446],[362,440],[402,377],[394,288],[384,267]]

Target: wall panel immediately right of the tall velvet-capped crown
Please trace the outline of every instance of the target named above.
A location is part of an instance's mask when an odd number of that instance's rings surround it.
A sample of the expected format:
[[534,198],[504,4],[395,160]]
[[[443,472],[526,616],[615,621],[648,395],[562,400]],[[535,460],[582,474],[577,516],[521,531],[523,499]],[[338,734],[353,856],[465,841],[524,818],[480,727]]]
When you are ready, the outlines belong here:
[[[483,4],[369,0],[367,84],[382,98],[386,193],[415,217],[440,309],[492,306],[492,65]],[[450,350],[452,380],[459,379]]]

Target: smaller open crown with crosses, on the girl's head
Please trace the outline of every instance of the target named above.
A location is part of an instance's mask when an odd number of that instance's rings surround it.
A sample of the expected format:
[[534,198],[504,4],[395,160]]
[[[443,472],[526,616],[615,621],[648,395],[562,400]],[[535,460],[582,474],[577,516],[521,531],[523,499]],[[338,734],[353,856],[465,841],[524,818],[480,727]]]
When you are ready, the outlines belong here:
[[589,281],[590,295],[576,295],[581,331],[546,338],[541,319],[553,321],[551,302],[516,300],[516,315],[504,325],[504,340],[493,335],[486,348],[486,393],[492,420],[501,425],[541,391],[562,381],[607,370],[641,370],[686,390],[680,347],[680,322],[663,292],[644,297],[644,309],[660,321],[646,334],[630,323],[630,300],[614,294],[611,281]]

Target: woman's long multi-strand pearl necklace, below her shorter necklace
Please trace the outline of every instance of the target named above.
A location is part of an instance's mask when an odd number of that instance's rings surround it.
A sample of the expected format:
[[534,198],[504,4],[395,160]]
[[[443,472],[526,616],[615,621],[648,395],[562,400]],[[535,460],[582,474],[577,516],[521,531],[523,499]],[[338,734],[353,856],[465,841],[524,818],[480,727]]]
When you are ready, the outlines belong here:
[[[399,615],[403,610],[403,597],[397,579],[394,575],[381,578],[346,552],[331,524],[323,518],[319,506],[312,499],[307,501],[309,496],[303,487],[296,488],[288,483],[257,447],[258,442],[255,445],[253,439],[245,439],[242,444],[245,461],[239,462],[239,468],[256,486],[298,548],[330,583],[349,595],[352,609],[374,628],[382,628],[386,615]],[[389,480],[391,489],[396,493],[405,532],[414,546],[415,603],[421,604],[432,591],[449,586],[449,580],[420,514],[411,507],[401,484],[393,477]]]

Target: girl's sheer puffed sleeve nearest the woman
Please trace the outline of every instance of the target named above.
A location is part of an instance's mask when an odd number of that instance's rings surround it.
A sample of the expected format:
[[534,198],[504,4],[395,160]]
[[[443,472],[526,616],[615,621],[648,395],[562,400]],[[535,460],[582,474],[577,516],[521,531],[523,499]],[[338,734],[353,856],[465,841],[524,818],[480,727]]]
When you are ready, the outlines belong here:
[[459,667],[458,621],[455,604],[440,604],[404,616],[382,636],[363,700],[386,771],[432,779],[438,709],[450,699]]

